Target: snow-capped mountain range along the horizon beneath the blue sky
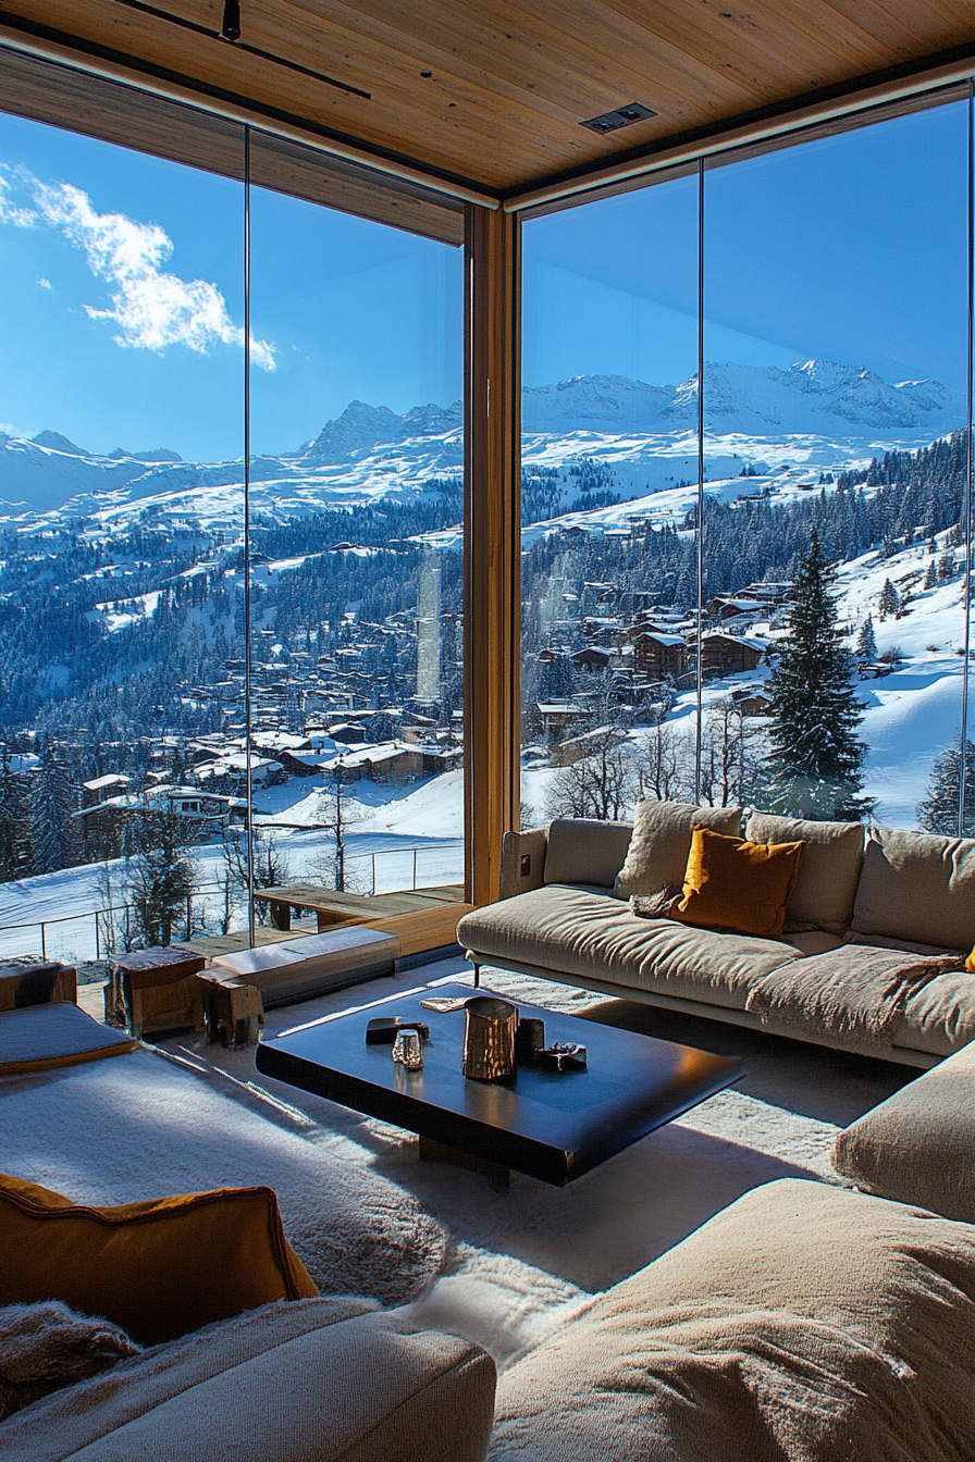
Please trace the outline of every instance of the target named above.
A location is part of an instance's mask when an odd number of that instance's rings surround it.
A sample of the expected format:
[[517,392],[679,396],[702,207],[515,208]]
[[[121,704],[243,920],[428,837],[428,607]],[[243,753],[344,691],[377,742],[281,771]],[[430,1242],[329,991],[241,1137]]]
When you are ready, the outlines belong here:
[[[820,360],[788,370],[728,363],[705,367],[705,421],[722,439],[722,462],[743,456],[770,461],[773,446],[789,447],[800,437],[807,439],[810,461],[832,459],[841,449],[862,455],[895,443],[917,446],[960,428],[965,420],[963,398],[937,380],[892,383],[864,367]],[[528,387],[522,398],[526,461],[569,465],[579,456],[605,455],[614,469],[624,468],[621,485],[652,477],[656,487],[659,472],[648,463],[662,466],[664,459],[672,465],[667,481],[681,475],[690,452],[687,434],[696,424],[696,376],[678,386],[574,376]],[[462,428],[459,401],[414,406],[402,415],[354,401],[297,450],[254,458],[251,481],[266,485],[262,500],[279,500],[282,507],[297,501],[304,512],[348,500],[349,493],[373,500],[402,497],[421,491],[433,477],[459,474]],[[817,443],[829,450],[817,452]],[[98,455],[54,430],[32,439],[0,433],[0,503],[15,512],[45,513],[76,499],[82,500],[73,504],[77,512],[92,512],[240,481],[240,459],[184,462],[168,447],[117,447]]]

